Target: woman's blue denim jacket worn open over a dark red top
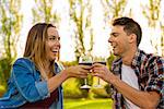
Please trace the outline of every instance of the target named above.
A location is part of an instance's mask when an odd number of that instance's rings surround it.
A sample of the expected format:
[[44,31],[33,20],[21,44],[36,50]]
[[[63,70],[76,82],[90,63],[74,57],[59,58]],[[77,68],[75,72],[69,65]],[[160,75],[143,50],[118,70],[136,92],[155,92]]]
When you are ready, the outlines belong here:
[[[60,72],[57,63],[55,70]],[[62,87],[58,87],[59,100],[49,109],[62,109]],[[11,77],[8,82],[8,92],[0,98],[0,108],[17,108],[27,101],[34,102],[50,96],[47,81],[42,81],[40,73],[34,62],[26,58],[17,59],[12,68]]]

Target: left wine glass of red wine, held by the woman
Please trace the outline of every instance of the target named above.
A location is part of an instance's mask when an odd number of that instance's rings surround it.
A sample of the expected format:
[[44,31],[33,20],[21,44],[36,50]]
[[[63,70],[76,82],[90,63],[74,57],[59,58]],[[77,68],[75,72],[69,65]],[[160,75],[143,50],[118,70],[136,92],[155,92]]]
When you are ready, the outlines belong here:
[[[80,57],[79,64],[92,65],[92,57],[91,56],[82,56],[82,57]],[[91,88],[91,86],[87,85],[87,78],[84,78],[84,85],[82,85],[81,88],[82,89]]]

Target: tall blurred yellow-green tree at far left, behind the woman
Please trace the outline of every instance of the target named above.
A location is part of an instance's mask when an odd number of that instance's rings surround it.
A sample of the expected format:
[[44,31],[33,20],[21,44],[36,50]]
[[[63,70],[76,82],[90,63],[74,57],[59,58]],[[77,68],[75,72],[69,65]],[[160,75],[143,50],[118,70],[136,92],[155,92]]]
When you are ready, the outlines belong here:
[[0,1],[0,36],[1,53],[0,57],[0,90],[2,95],[7,89],[7,82],[10,77],[12,62],[17,57],[17,41],[22,26],[23,15],[20,13],[21,0]]

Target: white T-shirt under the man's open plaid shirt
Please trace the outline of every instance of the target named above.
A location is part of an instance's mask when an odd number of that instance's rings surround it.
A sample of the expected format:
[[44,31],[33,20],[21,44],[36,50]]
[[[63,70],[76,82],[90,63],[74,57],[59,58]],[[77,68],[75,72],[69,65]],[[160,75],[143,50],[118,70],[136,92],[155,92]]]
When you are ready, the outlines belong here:
[[[128,85],[130,85],[131,87],[139,89],[138,77],[137,77],[134,71],[130,66],[122,64],[121,80],[125,83],[127,83]],[[138,106],[132,104],[127,98],[125,98],[125,106],[126,106],[126,109],[140,109]]]

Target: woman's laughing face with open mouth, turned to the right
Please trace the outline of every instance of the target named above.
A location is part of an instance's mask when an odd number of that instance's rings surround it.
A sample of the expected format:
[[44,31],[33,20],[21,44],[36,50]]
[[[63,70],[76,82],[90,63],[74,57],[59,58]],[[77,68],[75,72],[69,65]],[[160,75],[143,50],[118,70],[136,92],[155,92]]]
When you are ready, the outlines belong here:
[[54,61],[58,58],[60,51],[60,37],[55,27],[48,27],[47,34],[46,55],[48,60]]

